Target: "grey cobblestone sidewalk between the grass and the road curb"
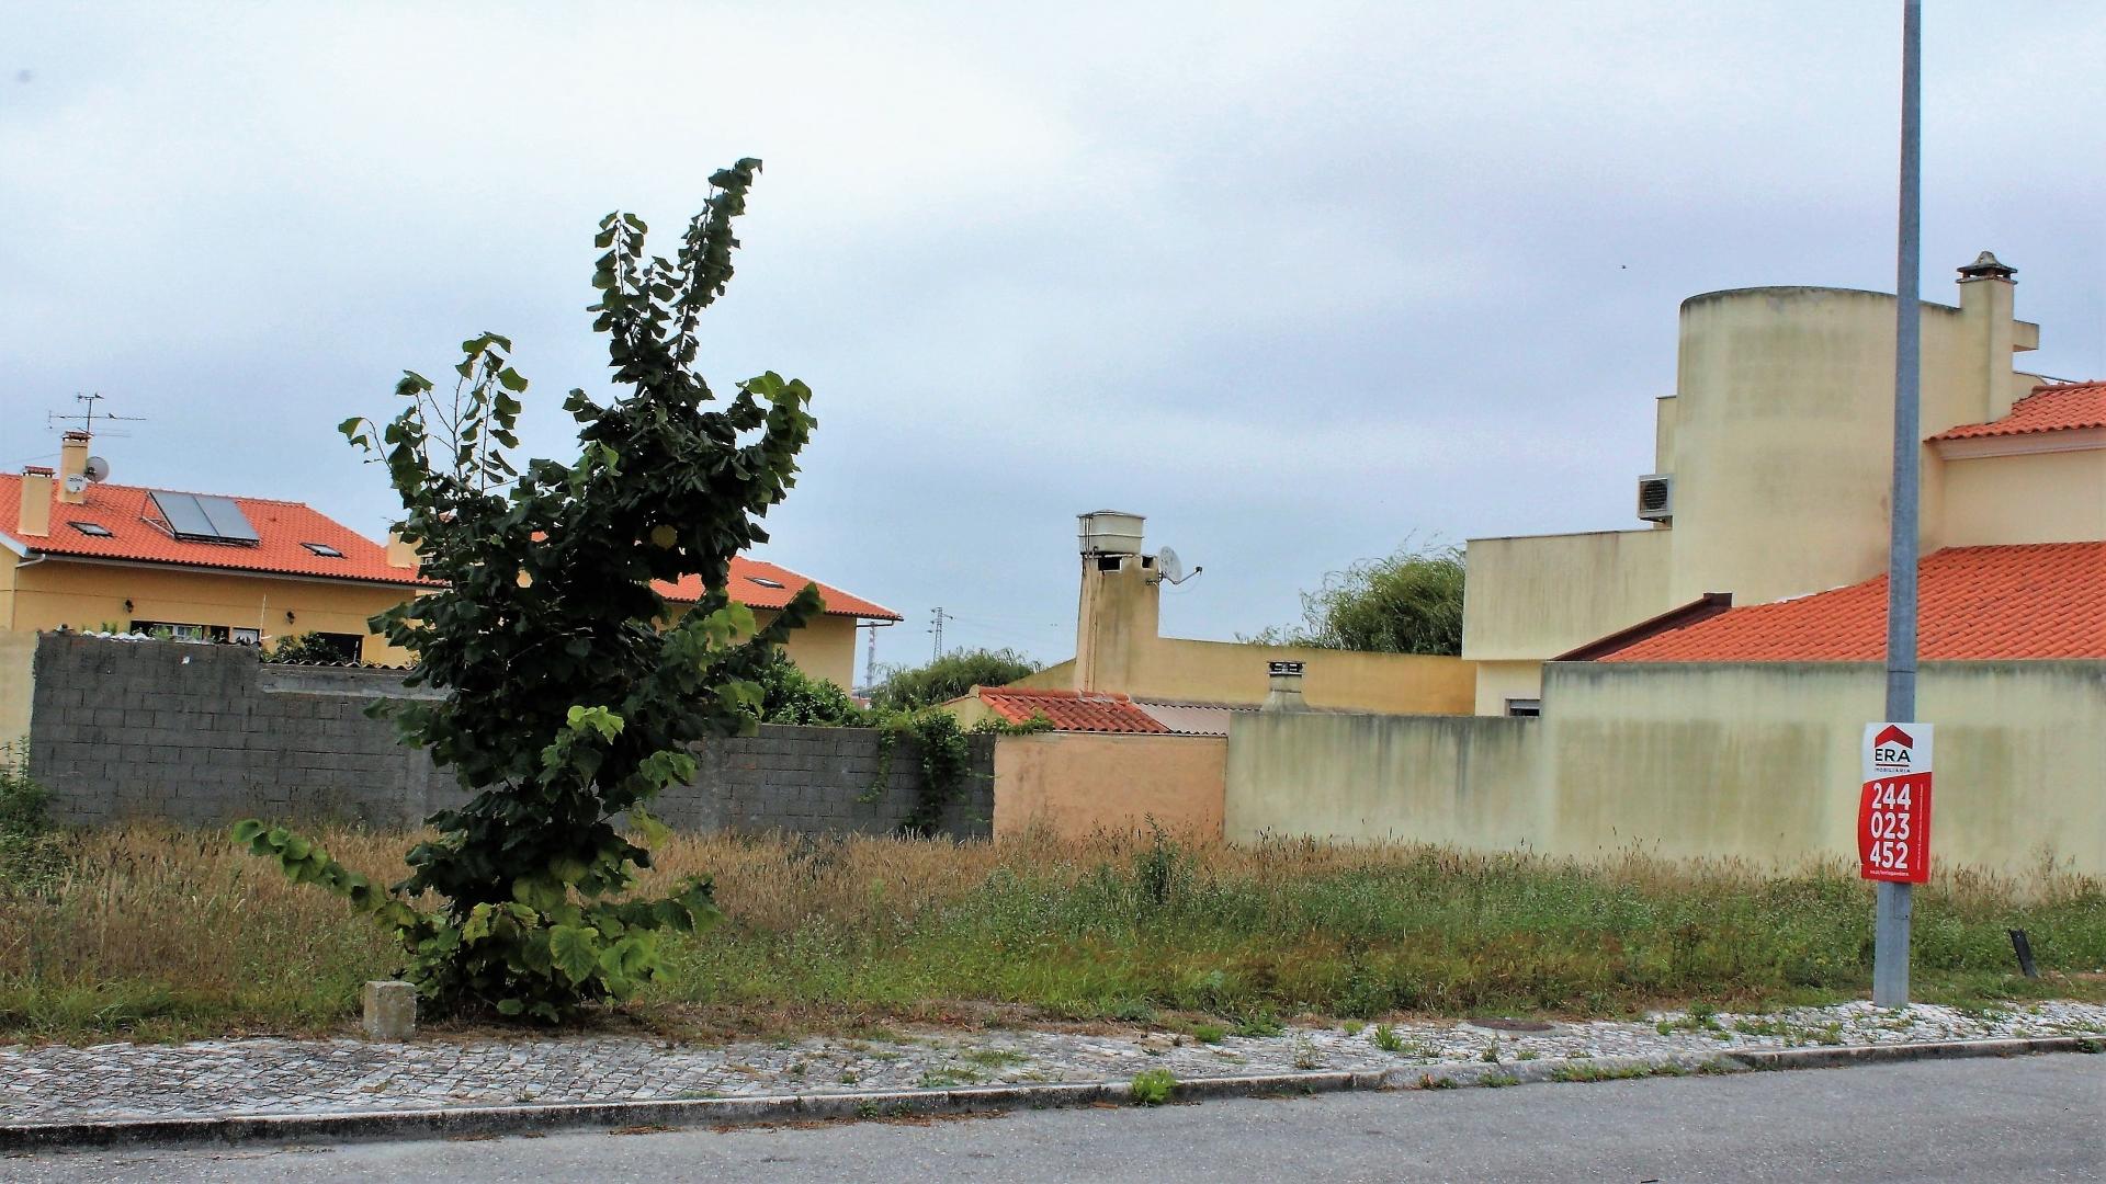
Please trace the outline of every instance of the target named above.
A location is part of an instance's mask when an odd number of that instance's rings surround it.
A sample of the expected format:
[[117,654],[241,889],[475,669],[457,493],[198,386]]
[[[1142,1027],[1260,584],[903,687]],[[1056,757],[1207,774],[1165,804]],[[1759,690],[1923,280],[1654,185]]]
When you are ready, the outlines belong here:
[[[1384,1034],[1386,1032],[1386,1034]],[[347,1114],[510,1106],[948,1089],[1034,1081],[1179,1079],[1289,1070],[1386,1070],[1483,1060],[1708,1055],[1792,1045],[2106,1034],[2106,1005],[2041,1003],[1994,1013],[1868,1003],[1773,1015],[1660,1015],[1556,1024],[1548,1032],[1434,1022],[1289,1028],[1272,1037],[1131,1030],[916,1030],[887,1041],[668,1045],[647,1039],[200,1041],[187,1045],[0,1047],[0,1121]],[[1388,1045],[1388,1047],[1384,1047]]]

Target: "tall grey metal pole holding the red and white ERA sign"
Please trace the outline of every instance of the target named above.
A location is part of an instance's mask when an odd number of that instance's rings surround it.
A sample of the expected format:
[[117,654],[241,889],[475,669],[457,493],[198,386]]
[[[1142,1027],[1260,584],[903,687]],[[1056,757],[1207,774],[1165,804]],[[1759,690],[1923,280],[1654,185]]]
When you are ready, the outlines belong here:
[[[1902,0],[1902,211],[1893,282],[1893,533],[1887,544],[1887,721],[1916,718],[1916,501],[1923,455],[1923,0]],[[1872,1003],[1908,1007],[1912,885],[1879,881]]]

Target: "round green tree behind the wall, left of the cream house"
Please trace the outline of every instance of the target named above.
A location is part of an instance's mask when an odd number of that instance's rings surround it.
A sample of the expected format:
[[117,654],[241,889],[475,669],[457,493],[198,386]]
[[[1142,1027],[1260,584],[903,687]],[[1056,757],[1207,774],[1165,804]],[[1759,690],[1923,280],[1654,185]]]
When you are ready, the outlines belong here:
[[1360,560],[1302,594],[1302,624],[1243,640],[1371,653],[1462,653],[1462,548],[1415,548]]

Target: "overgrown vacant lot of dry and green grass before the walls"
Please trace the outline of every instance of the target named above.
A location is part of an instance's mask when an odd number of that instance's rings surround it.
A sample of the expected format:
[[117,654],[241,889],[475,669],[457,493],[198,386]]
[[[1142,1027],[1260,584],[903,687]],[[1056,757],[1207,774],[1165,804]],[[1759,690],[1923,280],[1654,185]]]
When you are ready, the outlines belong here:
[[[320,838],[390,881],[411,841]],[[1426,847],[731,836],[676,836],[659,862],[714,872],[731,921],[672,946],[665,982],[611,1018],[657,1030],[1615,1015],[1870,982],[1872,889],[1841,864],[1763,879]],[[2106,996],[2100,881],[1948,872],[1916,900],[1919,996]],[[2007,927],[2030,931],[2043,980],[2011,973]],[[0,1039],[331,1030],[362,980],[394,969],[335,897],[217,832],[67,834],[29,887],[0,887]]]

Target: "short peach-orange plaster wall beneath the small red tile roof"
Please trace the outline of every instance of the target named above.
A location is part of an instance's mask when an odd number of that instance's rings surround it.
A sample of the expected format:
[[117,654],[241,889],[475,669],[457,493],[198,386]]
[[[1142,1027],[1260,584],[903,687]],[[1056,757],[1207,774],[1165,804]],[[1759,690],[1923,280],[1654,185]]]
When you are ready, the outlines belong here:
[[1219,735],[1002,735],[994,742],[994,838],[1127,832],[1152,820],[1215,841],[1226,765]]

